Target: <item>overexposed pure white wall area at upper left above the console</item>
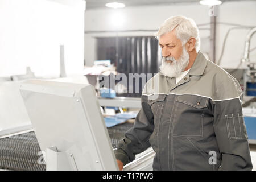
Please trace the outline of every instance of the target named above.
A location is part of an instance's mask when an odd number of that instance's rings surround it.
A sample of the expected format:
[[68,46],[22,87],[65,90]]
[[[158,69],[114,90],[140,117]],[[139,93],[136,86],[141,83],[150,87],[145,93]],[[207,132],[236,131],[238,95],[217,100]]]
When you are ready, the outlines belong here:
[[0,0],[0,77],[59,77],[60,45],[67,75],[84,65],[83,0]]

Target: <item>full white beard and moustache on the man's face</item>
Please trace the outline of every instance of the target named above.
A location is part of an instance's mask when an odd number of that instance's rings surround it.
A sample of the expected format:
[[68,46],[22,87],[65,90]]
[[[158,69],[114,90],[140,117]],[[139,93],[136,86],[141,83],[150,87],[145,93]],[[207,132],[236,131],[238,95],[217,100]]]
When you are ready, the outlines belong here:
[[[168,63],[166,61],[172,61],[172,63]],[[180,59],[177,61],[174,57],[163,57],[162,58],[162,65],[160,66],[160,71],[163,73],[164,76],[168,77],[178,77],[181,72],[187,67],[189,63],[189,54],[185,47],[183,47],[182,54]]]

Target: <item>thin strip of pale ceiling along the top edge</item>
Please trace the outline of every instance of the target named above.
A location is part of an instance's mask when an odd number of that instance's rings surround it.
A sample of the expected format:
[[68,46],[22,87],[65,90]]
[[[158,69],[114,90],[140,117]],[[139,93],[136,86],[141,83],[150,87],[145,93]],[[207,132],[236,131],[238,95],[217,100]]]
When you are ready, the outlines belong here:
[[[242,0],[222,0],[226,1],[242,1]],[[244,0],[243,0],[244,1]],[[255,1],[255,0],[252,0]],[[95,9],[105,7],[108,2],[121,2],[125,3],[126,7],[129,6],[144,6],[144,5],[159,5],[171,3],[199,3],[199,0],[86,0],[86,9]]]

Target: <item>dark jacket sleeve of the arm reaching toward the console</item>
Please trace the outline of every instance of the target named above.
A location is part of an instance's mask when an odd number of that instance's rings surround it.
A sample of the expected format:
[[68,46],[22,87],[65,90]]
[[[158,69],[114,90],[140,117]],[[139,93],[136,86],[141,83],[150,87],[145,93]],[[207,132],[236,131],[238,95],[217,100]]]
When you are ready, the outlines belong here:
[[150,147],[148,139],[154,130],[154,115],[147,103],[147,96],[142,95],[141,105],[142,108],[135,118],[134,126],[125,133],[125,137],[114,151],[115,158],[121,160],[124,165],[133,161],[136,154]]

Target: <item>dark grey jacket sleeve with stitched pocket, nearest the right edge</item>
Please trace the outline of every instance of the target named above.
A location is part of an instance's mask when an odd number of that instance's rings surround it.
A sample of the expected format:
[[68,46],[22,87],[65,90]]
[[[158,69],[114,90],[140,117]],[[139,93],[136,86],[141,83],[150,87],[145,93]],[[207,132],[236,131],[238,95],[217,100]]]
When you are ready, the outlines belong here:
[[222,156],[219,170],[253,168],[240,98],[214,101],[213,127]]

